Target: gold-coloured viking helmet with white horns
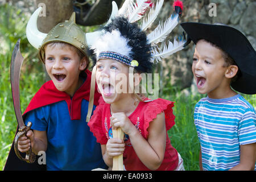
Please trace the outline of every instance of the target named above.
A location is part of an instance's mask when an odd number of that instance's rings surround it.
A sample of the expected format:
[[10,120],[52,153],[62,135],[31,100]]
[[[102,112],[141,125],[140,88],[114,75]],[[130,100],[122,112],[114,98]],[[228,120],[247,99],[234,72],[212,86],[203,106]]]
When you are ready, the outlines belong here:
[[[117,14],[118,7],[115,2],[112,3],[111,18]],[[65,20],[53,27],[48,34],[40,32],[37,27],[38,15],[42,7],[39,7],[28,20],[26,34],[30,44],[39,50],[39,59],[44,63],[44,46],[51,42],[64,42],[71,44],[78,48],[84,55],[86,55],[86,48],[92,44],[94,39],[101,34],[101,31],[84,33],[82,29],[77,26],[75,12],[71,15],[69,20]],[[106,23],[106,24],[108,24]]]

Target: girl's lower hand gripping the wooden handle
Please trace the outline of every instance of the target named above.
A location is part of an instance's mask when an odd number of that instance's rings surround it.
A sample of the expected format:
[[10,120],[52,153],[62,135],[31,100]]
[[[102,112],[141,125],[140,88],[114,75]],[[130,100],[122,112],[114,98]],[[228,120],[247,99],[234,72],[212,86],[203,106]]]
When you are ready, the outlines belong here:
[[106,152],[110,158],[123,154],[125,143],[121,139],[110,138],[106,144]]

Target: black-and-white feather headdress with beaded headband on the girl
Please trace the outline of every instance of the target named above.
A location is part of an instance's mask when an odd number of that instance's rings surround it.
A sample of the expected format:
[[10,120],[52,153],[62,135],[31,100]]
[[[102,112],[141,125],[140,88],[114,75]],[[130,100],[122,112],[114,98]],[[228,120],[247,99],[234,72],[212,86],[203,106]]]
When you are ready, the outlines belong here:
[[[112,4],[116,6],[115,3]],[[110,20],[101,31],[90,34],[90,39],[89,36],[88,39],[86,37],[88,45],[91,45],[96,53],[96,61],[100,59],[117,60],[134,67],[138,72],[148,73],[151,72],[155,62],[183,49],[186,43],[184,38],[174,39],[174,43],[169,41],[168,46],[164,43],[162,50],[157,46],[158,43],[166,40],[168,34],[179,23],[179,16],[183,9],[181,1],[175,1],[175,12],[163,25],[159,23],[159,26],[151,34],[146,34],[147,28],[154,22],[162,6],[163,0],[158,0],[156,5],[148,0],[136,0],[135,2],[126,0],[116,13],[115,18]],[[150,10],[147,16],[143,18],[148,9]],[[135,22],[141,18],[143,20],[139,26]],[[94,39],[93,35],[98,39]],[[97,67],[94,66],[92,71],[87,122],[93,108],[96,69]],[[141,100],[139,96],[138,99]]]

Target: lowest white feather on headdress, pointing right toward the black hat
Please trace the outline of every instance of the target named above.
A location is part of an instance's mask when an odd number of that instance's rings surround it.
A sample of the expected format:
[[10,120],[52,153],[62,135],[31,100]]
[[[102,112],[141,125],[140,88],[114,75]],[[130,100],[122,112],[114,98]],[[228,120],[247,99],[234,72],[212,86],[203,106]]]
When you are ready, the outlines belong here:
[[173,53],[182,50],[184,47],[184,44],[186,43],[186,40],[184,38],[180,38],[179,41],[174,38],[174,43],[172,44],[171,41],[169,41],[169,44],[167,46],[166,43],[164,43],[163,51],[161,51],[158,47],[152,48],[152,59],[151,62],[154,63],[154,60],[156,60],[156,63],[159,61],[162,61],[163,58],[166,58]]

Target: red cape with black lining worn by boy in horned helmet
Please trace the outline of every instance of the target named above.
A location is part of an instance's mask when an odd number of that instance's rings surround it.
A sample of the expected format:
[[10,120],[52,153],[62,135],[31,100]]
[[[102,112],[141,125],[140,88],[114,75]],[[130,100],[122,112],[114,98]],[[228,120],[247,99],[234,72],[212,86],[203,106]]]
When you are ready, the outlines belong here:
[[[47,81],[43,86],[38,90],[38,92],[35,94],[35,96],[30,101],[30,104],[28,105],[27,109],[25,110],[23,114],[23,118],[25,117],[26,113],[28,111],[37,109],[42,106],[46,106],[49,104],[53,104],[55,102],[59,101],[66,101],[69,109],[69,115],[71,116],[71,119],[80,119],[81,117],[81,101],[82,99],[85,99],[89,101],[90,97],[90,80],[92,73],[88,70],[85,71],[87,77],[84,82],[84,84],[76,91],[74,94],[72,100],[71,97],[65,93],[60,92],[56,89],[55,85],[52,81]],[[97,85],[96,85],[96,91],[94,92],[94,105],[98,105],[98,99],[100,98],[101,94],[97,91]],[[18,128],[16,133],[18,132]],[[24,156],[24,153],[21,155]],[[8,158],[6,160],[5,164],[5,171],[16,171],[16,170],[46,170],[46,165],[39,165],[38,164],[39,156],[36,156],[36,162],[33,164],[28,164],[16,156],[14,152],[14,144],[11,146],[11,150],[9,152]]]

